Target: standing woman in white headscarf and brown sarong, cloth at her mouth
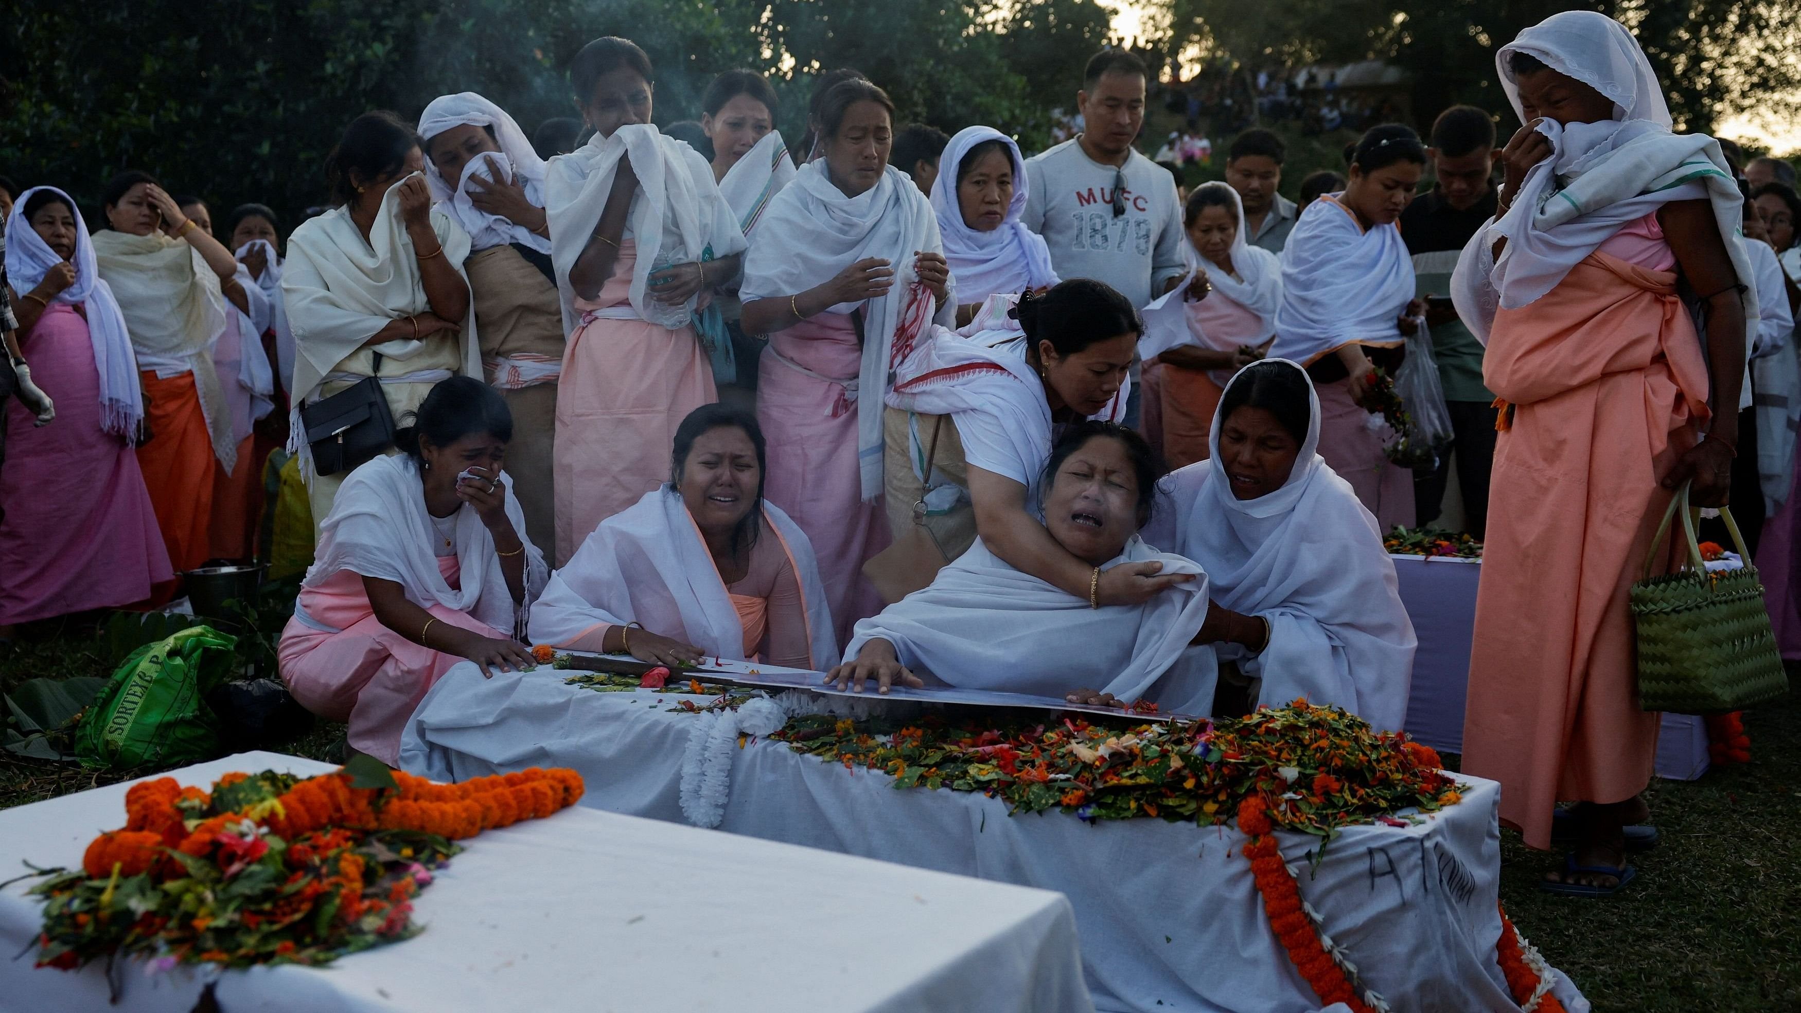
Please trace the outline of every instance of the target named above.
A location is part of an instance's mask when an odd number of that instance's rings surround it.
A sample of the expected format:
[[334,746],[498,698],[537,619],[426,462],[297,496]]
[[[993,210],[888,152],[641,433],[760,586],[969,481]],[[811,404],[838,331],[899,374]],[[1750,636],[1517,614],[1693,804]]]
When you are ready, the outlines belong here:
[[420,113],[425,182],[436,207],[470,238],[463,261],[481,365],[513,412],[508,475],[531,543],[557,556],[557,378],[562,304],[544,212],[544,160],[526,133],[475,92],[441,95]]

